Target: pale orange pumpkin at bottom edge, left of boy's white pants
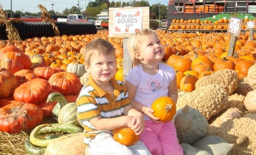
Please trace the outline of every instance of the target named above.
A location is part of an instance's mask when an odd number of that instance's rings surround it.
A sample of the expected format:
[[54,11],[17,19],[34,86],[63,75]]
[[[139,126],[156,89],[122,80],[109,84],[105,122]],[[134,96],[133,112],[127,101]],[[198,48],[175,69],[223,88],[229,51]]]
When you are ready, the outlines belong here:
[[53,140],[46,147],[44,155],[85,155],[84,133],[74,133]]

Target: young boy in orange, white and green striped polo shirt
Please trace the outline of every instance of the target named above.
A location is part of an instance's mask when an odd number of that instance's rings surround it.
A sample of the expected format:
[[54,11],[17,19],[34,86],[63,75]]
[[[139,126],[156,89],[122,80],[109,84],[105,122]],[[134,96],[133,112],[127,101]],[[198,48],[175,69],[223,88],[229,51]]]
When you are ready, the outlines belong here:
[[144,117],[131,105],[123,83],[114,79],[115,48],[106,40],[95,39],[86,45],[84,57],[90,75],[76,105],[87,150],[91,155],[151,155],[141,141],[124,146],[113,139],[111,131],[118,127],[131,127],[137,135],[145,127]]

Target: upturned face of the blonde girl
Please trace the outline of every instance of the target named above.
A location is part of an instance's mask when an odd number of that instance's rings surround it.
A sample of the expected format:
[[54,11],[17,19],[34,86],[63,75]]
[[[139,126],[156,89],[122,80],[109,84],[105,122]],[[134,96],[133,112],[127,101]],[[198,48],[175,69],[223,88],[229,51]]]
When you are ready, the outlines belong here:
[[158,63],[165,55],[164,46],[158,37],[146,36],[135,52],[137,59],[144,64]]

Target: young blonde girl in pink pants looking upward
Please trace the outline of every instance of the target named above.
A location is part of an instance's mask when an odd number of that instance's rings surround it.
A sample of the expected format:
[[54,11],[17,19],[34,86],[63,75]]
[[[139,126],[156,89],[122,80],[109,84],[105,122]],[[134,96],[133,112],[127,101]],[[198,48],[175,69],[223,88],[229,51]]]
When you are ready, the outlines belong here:
[[145,118],[145,130],[140,136],[152,155],[183,155],[173,121],[163,123],[150,108],[160,96],[178,99],[175,71],[161,63],[165,54],[159,37],[151,29],[142,29],[128,39],[128,49],[134,68],[125,79],[128,96],[135,109]]

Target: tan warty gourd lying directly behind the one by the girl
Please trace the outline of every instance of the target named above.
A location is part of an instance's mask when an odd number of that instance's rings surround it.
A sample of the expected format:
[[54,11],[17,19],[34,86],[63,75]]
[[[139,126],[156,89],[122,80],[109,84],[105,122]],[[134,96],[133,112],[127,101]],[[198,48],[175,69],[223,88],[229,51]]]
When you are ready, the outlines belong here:
[[198,79],[195,86],[197,89],[198,87],[208,84],[219,84],[227,91],[228,95],[230,95],[237,89],[238,82],[239,79],[236,71],[232,69],[222,69]]

